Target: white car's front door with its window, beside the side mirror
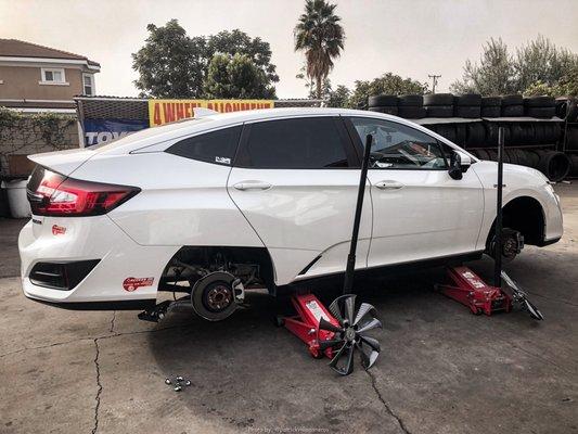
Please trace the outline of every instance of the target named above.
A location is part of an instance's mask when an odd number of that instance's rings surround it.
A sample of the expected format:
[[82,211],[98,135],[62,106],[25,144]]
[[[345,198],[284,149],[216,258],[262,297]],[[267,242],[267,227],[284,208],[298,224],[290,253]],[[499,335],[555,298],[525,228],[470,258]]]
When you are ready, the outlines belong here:
[[403,124],[351,117],[361,149],[373,136],[368,171],[373,234],[368,267],[452,256],[476,250],[484,195],[474,170],[448,175],[451,148]]

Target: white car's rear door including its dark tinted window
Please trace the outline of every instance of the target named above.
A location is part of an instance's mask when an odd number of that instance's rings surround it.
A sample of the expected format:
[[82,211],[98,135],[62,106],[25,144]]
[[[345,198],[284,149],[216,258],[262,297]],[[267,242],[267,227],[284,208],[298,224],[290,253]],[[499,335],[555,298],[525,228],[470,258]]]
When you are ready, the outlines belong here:
[[[339,117],[245,124],[228,191],[268,247],[278,284],[345,269],[357,158]],[[365,267],[371,237],[371,199],[365,197],[358,268]]]

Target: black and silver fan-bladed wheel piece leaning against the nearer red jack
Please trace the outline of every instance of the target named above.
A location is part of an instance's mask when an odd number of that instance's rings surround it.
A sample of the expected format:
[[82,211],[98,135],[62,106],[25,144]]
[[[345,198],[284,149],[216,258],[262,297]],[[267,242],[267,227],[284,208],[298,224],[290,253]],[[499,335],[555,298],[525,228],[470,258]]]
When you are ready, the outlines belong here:
[[370,369],[377,356],[380,355],[380,343],[377,340],[367,336],[370,330],[382,328],[381,321],[375,318],[375,308],[362,303],[356,314],[356,296],[354,294],[342,295],[329,307],[331,314],[339,322],[339,327],[321,318],[319,330],[325,330],[335,333],[333,339],[319,341],[319,347],[322,352],[327,348],[336,350],[335,356],[330,362],[330,367],[341,375],[349,375],[354,372],[354,352],[357,348],[361,358],[361,365]]

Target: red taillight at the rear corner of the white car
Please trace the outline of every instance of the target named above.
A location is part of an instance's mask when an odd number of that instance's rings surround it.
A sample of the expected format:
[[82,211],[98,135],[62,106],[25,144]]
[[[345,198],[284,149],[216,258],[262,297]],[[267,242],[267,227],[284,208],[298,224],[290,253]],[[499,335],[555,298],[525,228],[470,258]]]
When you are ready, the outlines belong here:
[[66,178],[40,167],[27,186],[30,208],[37,216],[100,216],[139,191],[136,187]]

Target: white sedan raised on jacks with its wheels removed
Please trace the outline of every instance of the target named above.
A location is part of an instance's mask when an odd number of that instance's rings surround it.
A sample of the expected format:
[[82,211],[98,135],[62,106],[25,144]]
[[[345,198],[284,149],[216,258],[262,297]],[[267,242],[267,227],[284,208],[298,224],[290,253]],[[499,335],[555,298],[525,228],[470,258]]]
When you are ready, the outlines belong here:
[[[24,293],[121,309],[151,308],[158,291],[177,291],[215,320],[245,289],[274,295],[343,275],[367,135],[357,271],[491,251],[496,163],[395,116],[273,108],[30,156],[33,218],[18,240]],[[560,202],[547,179],[506,164],[504,184],[503,254],[518,252],[518,235],[538,246],[560,240]]]

